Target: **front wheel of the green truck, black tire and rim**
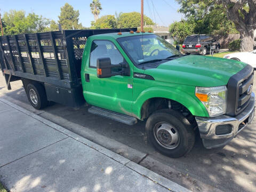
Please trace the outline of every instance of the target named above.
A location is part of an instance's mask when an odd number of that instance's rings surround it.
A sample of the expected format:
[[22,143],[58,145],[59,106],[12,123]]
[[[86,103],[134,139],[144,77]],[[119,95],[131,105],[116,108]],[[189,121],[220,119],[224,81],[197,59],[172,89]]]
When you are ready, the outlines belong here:
[[[172,135],[165,130],[166,127],[170,130],[169,126],[171,127]],[[163,128],[160,129],[161,127]],[[177,135],[175,135],[177,133],[178,140]],[[189,153],[195,143],[195,132],[191,124],[184,116],[171,109],[158,110],[150,115],[146,123],[146,134],[148,141],[160,153],[173,158],[182,157]],[[172,137],[166,137],[168,134]],[[163,140],[161,142],[159,135],[164,138],[164,141],[169,142],[170,140],[166,138],[171,138],[171,142],[175,143],[168,146],[163,143]]]

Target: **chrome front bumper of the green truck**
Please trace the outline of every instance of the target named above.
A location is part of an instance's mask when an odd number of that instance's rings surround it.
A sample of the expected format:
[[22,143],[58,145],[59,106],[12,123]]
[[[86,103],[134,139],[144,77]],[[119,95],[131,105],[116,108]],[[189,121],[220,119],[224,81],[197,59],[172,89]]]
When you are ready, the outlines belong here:
[[[242,131],[247,124],[250,124],[254,117],[254,104],[255,94],[252,92],[251,99],[248,106],[242,111],[241,114],[230,117],[227,115],[220,115],[218,117],[196,117],[198,129],[203,140],[205,148],[223,147],[227,143],[236,137],[236,135]],[[226,134],[217,134],[220,125],[226,125],[230,127],[230,132]]]

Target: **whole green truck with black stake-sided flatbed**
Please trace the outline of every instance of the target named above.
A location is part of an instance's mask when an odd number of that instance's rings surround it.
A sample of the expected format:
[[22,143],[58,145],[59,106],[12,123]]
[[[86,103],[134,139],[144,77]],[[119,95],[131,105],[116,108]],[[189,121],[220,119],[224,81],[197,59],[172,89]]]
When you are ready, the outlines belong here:
[[137,29],[63,30],[0,37],[8,89],[22,80],[36,109],[49,101],[133,125],[170,157],[187,154],[198,130],[206,148],[225,146],[254,117],[253,68],[183,55]]

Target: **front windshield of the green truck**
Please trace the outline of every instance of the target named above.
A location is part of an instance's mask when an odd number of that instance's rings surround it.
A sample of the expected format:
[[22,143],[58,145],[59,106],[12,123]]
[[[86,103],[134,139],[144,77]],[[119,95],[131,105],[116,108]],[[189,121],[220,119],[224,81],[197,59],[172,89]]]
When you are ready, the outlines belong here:
[[137,65],[147,61],[154,62],[170,58],[173,55],[180,55],[180,52],[170,43],[157,35],[121,37],[117,41]]

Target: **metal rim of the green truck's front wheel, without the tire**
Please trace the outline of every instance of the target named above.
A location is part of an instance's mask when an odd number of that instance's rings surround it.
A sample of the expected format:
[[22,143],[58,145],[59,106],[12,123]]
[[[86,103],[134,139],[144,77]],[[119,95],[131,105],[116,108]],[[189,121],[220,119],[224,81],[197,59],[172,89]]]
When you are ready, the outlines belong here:
[[177,129],[169,123],[159,122],[154,127],[154,137],[159,145],[166,149],[175,149],[180,143]]

